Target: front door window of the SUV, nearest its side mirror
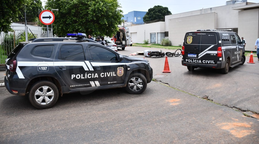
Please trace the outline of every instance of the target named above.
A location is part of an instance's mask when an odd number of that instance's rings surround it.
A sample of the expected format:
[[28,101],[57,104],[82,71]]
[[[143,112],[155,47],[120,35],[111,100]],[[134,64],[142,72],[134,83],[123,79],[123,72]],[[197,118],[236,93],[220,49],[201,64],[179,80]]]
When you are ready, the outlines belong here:
[[118,60],[115,53],[99,46],[89,45],[89,51],[90,51],[92,60],[100,60],[100,61]]

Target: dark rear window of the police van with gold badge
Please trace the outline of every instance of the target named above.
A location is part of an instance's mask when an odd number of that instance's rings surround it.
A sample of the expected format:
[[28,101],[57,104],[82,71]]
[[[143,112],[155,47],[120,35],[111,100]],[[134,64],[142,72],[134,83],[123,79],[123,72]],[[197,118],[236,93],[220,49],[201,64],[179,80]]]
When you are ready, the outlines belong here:
[[216,45],[216,33],[187,33],[185,44]]

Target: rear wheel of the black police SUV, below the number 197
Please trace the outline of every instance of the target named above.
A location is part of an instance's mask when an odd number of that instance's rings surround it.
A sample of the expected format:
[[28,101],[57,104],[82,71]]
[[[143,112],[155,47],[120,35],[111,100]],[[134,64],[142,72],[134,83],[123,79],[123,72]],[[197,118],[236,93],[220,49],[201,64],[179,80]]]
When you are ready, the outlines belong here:
[[29,100],[38,109],[48,109],[58,101],[58,88],[49,81],[37,82],[29,91]]

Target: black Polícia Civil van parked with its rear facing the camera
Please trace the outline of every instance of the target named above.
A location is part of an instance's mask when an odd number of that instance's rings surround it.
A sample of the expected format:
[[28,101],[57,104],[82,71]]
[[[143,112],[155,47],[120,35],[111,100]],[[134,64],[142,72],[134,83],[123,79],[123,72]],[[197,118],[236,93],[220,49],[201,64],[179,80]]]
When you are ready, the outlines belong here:
[[237,33],[227,30],[197,30],[187,32],[182,46],[182,65],[189,71],[198,67],[221,69],[243,65],[245,49]]

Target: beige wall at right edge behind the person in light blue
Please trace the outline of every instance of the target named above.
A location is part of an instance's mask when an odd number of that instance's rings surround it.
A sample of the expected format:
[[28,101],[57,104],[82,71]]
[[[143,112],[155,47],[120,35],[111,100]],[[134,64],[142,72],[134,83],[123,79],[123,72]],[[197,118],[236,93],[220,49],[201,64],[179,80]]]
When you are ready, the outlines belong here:
[[238,35],[246,40],[245,50],[256,51],[254,44],[259,38],[259,9],[238,12]]

